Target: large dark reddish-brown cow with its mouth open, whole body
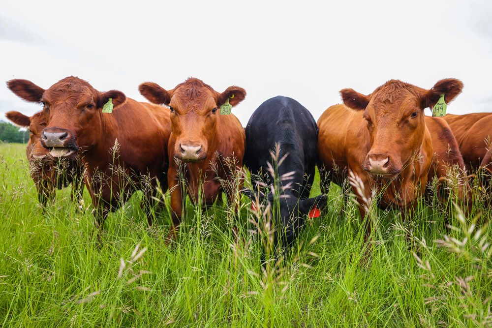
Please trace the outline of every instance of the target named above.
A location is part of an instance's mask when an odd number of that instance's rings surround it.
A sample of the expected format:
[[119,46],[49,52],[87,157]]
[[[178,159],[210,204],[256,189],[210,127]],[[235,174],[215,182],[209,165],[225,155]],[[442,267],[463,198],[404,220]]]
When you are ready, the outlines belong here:
[[[158,180],[167,189],[169,109],[126,98],[117,90],[100,92],[73,76],[46,90],[27,80],[11,80],[7,86],[19,97],[43,104],[47,126],[41,143],[52,156],[78,153],[82,158],[96,226],[102,229],[108,212],[134,190],[143,189],[142,204],[150,206],[155,190],[149,186]],[[102,113],[105,104],[114,105],[112,113]]]

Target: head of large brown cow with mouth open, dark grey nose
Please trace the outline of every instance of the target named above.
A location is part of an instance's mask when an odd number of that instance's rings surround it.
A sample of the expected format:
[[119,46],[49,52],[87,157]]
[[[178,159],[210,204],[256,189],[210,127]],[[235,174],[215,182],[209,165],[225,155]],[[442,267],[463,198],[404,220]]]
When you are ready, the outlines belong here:
[[112,98],[116,108],[126,100],[120,91],[99,92],[73,76],[46,90],[19,79],[8,81],[7,87],[22,99],[43,105],[47,124],[40,139],[53,157],[71,156],[79,149],[94,146],[103,133],[101,109],[104,104]]

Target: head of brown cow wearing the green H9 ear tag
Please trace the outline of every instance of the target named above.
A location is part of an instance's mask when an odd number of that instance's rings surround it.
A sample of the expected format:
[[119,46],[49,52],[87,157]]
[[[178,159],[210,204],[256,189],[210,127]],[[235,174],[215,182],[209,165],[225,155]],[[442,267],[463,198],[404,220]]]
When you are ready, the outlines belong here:
[[449,103],[462,88],[461,81],[445,79],[430,90],[399,80],[390,80],[369,95],[353,89],[341,90],[343,103],[363,111],[363,118],[367,121],[370,150],[364,169],[386,179],[400,174],[422,146],[424,109],[432,108],[443,93],[446,103]]

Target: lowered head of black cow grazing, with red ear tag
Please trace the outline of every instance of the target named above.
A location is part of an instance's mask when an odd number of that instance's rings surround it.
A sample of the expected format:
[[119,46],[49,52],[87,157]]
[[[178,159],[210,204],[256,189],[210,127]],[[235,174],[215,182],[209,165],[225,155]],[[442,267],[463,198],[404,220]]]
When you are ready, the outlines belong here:
[[[246,188],[242,192],[251,200],[252,209],[257,210],[257,205],[262,205],[264,209],[268,209],[268,213],[263,213],[263,215],[270,216],[277,225],[276,229],[281,233],[284,246],[294,240],[299,233],[300,226],[305,221],[304,218],[306,216],[319,216],[319,209],[323,209],[328,201],[327,195],[298,199],[292,194],[282,194],[275,197],[270,192],[263,194]],[[279,229],[286,229],[286,231]]]

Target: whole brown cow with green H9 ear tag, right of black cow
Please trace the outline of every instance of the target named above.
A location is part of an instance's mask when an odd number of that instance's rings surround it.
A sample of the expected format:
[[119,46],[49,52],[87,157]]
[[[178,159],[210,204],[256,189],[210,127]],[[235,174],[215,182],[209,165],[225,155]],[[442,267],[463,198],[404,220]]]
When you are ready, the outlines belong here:
[[[449,103],[461,89],[459,80],[445,79],[430,90],[398,80],[386,82],[369,95],[341,90],[345,105],[328,108],[318,119],[321,181],[343,181],[348,171],[358,176],[362,190],[353,186],[353,191],[363,220],[373,190],[382,193],[381,208],[397,207],[408,216],[430,177],[443,177],[449,164],[464,168],[446,122],[424,116],[424,109],[432,108],[441,93]],[[365,225],[368,239],[371,222]]]

